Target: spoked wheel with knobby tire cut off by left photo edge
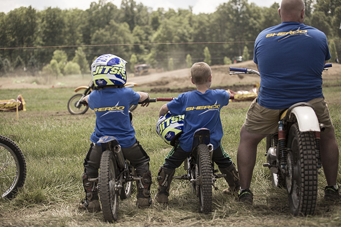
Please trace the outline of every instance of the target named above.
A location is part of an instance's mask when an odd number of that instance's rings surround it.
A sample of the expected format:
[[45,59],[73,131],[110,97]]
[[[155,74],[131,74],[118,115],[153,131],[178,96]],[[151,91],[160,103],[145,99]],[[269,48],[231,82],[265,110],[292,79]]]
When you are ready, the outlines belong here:
[[11,199],[24,186],[26,162],[20,148],[3,135],[0,135],[0,170],[1,197]]

